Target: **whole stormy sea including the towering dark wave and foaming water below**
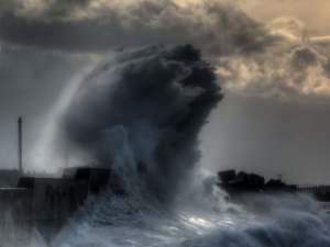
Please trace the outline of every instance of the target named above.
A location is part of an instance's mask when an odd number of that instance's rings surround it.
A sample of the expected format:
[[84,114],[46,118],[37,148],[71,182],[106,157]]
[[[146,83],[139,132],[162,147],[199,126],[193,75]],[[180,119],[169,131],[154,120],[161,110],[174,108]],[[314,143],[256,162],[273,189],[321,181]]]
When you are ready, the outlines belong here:
[[110,184],[33,245],[330,247],[329,215],[311,198],[232,203],[204,170],[199,133],[222,98],[191,45],[122,49],[94,68],[59,124],[76,160],[111,168]]

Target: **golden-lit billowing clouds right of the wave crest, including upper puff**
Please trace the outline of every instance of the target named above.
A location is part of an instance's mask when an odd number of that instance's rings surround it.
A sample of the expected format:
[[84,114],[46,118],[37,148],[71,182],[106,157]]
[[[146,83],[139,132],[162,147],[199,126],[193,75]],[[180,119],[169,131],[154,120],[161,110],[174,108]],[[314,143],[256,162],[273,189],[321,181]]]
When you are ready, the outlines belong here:
[[218,75],[224,88],[256,98],[329,101],[330,53],[320,45],[328,36],[310,36],[293,16],[277,18],[265,26],[279,38],[276,46],[251,56],[219,57]]

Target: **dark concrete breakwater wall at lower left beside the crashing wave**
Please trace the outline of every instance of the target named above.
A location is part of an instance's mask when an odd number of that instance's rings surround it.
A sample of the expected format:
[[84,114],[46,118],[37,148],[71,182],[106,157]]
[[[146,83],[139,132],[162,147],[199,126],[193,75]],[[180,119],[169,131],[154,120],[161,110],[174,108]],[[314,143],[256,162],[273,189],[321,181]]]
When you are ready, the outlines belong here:
[[110,169],[69,168],[62,178],[22,177],[16,188],[0,189],[0,246],[29,246],[35,229],[50,242],[110,175]]

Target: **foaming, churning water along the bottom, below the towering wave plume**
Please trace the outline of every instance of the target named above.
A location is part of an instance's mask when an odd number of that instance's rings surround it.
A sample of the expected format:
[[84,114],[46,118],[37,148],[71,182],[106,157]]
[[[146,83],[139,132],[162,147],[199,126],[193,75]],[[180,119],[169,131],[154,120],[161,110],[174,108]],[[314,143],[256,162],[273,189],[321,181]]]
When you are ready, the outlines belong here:
[[244,209],[221,195],[218,207],[165,206],[141,188],[132,193],[90,199],[51,246],[330,246],[330,217],[306,195],[252,195]]

